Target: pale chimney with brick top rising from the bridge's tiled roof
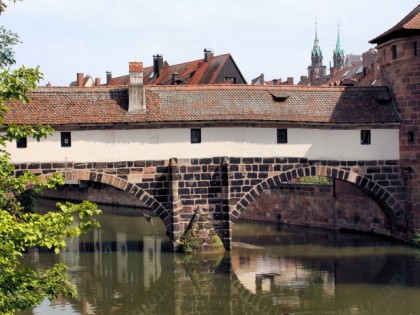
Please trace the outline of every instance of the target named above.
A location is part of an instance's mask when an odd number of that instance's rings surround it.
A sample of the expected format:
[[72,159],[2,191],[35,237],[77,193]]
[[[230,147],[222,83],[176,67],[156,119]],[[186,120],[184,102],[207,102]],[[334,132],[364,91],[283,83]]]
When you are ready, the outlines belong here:
[[129,63],[128,112],[145,112],[146,95],[143,83],[143,63]]

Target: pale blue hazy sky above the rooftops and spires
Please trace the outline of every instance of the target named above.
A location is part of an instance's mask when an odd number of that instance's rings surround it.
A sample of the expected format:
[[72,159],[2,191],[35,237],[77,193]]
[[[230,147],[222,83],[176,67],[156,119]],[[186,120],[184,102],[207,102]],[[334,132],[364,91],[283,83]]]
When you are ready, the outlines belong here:
[[307,75],[317,20],[324,65],[337,42],[361,55],[418,0],[24,0],[9,3],[0,25],[19,34],[17,65],[40,66],[44,79],[68,86],[82,72],[106,81],[130,61],[151,66],[202,59],[204,48],[230,53],[249,83]]

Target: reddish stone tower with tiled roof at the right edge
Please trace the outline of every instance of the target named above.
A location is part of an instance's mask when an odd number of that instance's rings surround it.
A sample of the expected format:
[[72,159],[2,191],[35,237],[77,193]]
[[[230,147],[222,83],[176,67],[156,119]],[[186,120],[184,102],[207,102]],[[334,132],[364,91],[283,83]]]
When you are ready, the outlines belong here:
[[400,163],[407,187],[406,224],[420,232],[420,5],[370,41],[377,44],[380,84],[388,85],[402,117]]

